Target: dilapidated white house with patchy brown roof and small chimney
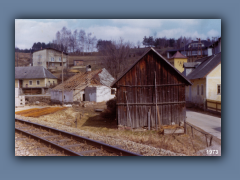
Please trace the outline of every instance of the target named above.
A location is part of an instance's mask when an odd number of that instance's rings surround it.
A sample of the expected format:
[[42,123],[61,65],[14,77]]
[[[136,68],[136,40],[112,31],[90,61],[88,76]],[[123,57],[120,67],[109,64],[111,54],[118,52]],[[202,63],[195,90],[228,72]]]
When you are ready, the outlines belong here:
[[[91,71],[87,66],[85,73],[79,73],[59,84],[51,90],[51,101],[74,103],[80,101],[108,101],[115,97],[115,89],[111,89],[111,83],[115,79],[103,68]],[[62,95],[62,90],[64,95]]]

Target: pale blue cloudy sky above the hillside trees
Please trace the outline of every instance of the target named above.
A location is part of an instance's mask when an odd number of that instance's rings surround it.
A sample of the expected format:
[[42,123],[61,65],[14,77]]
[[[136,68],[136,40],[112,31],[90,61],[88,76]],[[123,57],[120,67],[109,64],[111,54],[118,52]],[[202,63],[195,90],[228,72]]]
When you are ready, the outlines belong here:
[[34,42],[49,43],[63,26],[83,29],[97,39],[137,43],[144,36],[206,39],[221,36],[221,19],[16,19],[15,46],[29,49]]

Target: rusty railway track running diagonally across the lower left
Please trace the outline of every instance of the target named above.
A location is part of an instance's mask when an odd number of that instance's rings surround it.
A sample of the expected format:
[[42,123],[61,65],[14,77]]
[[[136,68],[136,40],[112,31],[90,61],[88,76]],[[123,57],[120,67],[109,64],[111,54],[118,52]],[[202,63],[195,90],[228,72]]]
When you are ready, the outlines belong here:
[[25,139],[34,139],[35,143],[45,144],[45,148],[38,148],[39,150],[47,151],[50,148],[51,152],[57,152],[48,154],[51,156],[141,156],[116,146],[18,118],[15,118],[15,133],[20,134],[19,140],[24,139],[24,136]]

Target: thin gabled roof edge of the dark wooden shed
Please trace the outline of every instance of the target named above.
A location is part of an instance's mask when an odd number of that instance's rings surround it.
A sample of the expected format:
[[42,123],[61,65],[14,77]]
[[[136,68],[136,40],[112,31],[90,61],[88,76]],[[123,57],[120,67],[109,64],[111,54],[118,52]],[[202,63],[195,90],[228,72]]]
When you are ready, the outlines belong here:
[[113,87],[128,71],[130,71],[137,63],[140,61],[147,53],[150,51],[153,51],[155,54],[157,54],[163,61],[165,61],[174,71],[176,71],[189,85],[192,85],[192,83],[183,75],[181,74],[168,60],[166,60],[161,54],[159,54],[155,49],[150,48],[147,50],[137,61],[133,63],[132,66],[130,66],[127,70],[125,70],[111,85]]

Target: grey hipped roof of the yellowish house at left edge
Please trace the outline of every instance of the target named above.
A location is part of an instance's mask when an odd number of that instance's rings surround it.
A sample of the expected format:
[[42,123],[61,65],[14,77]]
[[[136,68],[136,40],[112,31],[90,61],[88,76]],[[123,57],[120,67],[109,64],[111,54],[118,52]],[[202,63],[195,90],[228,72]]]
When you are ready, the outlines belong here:
[[15,79],[57,79],[51,72],[43,66],[15,67]]

